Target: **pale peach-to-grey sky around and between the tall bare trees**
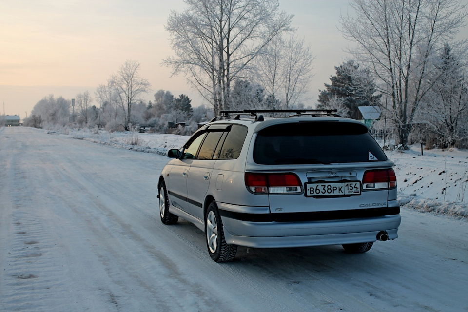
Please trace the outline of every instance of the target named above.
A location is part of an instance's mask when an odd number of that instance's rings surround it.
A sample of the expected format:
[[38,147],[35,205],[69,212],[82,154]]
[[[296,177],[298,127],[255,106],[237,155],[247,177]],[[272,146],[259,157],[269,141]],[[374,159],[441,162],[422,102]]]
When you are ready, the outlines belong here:
[[[349,57],[338,31],[348,0],[279,1],[312,44],[315,76],[304,103],[312,105],[334,66]],[[94,97],[126,59],[138,61],[152,85],[146,100],[164,89],[203,104],[184,76],[170,77],[171,69],[161,66],[173,55],[164,24],[170,10],[184,8],[183,0],[0,0],[0,114],[29,116],[49,94],[71,99],[89,91]]]

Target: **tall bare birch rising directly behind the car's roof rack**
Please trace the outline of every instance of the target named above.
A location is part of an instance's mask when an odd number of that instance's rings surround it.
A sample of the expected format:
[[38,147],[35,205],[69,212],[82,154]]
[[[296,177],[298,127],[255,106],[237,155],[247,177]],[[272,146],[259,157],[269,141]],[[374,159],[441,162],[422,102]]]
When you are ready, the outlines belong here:
[[243,78],[251,61],[276,36],[289,29],[292,16],[278,12],[278,0],[184,0],[172,11],[166,30],[176,56],[163,61],[183,73],[217,114],[229,109],[231,84]]

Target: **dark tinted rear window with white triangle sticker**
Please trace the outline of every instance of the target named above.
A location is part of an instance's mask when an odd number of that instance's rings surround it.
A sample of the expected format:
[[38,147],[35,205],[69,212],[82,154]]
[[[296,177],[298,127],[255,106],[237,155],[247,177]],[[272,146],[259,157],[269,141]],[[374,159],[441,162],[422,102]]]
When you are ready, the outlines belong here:
[[258,164],[329,164],[387,160],[365,125],[350,122],[294,122],[258,132]]

